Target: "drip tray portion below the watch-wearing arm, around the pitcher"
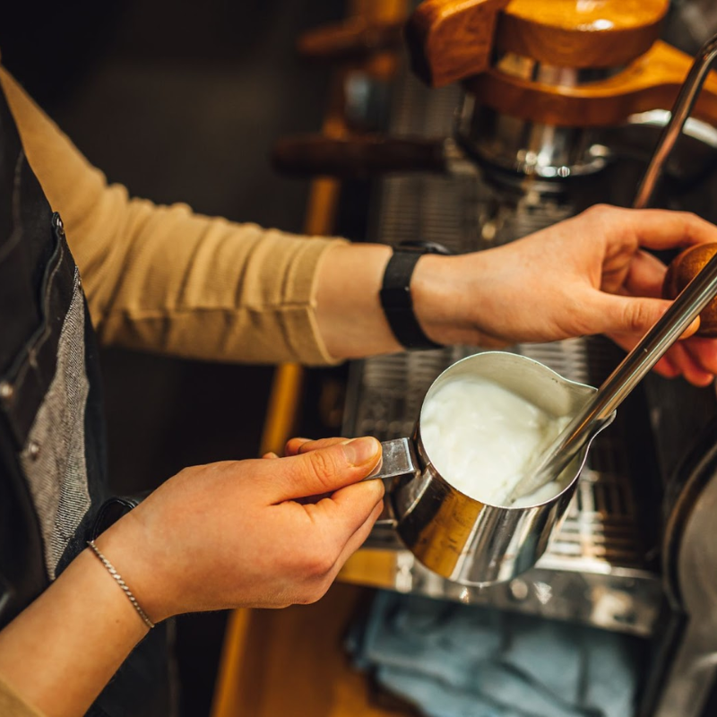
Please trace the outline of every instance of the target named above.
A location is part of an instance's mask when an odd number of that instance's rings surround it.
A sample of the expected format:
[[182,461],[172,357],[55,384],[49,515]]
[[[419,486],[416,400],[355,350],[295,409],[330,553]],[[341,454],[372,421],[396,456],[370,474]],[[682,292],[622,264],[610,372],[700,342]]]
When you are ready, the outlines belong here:
[[[600,383],[618,360],[614,347],[601,339],[513,350],[585,384]],[[356,362],[350,371],[344,435],[380,440],[409,436],[430,384],[471,352],[454,348]],[[618,411],[616,423],[598,436],[561,530],[537,566],[510,583],[482,588],[451,583],[421,566],[385,527],[374,529],[341,579],[652,635],[664,597],[639,527],[625,422]]]

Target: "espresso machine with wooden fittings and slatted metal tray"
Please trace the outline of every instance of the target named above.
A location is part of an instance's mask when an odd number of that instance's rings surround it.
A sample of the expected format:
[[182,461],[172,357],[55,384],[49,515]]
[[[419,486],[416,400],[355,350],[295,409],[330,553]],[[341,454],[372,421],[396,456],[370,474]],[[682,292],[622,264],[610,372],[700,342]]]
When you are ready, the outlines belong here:
[[[702,13],[714,34],[711,7],[692,4],[691,18]],[[285,138],[274,162],[298,176],[368,177],[368,238],[388,244],[477,251],[595,203],[717,221],[717,75],[704,75],[677,143],[651,165],[693,64],[661,39],[674,30],[668,13],[667,0],[426,0],[405,23],[317,29],[299,48],[354,68],[344,99],[355,132]],[[367,58],[404,47],[390,82],[362,73]],[[638,197],[648,165],[660,182]],[[342,434],[410,435],[429,385],[476,350],[353,362]],[[599,337],[511,350],[592,385],[620,359]],[[527,573],[452,583],[377,527],[341,577],[636,635],[647,648],[635,717],[714,714],[716,476],[714,388],[652,376],[596,440],[566,521]]]

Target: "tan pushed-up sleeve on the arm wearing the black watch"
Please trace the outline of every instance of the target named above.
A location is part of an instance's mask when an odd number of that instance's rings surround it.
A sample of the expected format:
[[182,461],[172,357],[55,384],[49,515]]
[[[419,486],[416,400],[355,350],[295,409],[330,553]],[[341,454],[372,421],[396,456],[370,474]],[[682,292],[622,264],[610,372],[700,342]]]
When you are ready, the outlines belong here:
[[30,166],[65,222],[100,341],[189,358],[326,364],[315,275],[337,239],[158,206],[108,185],[0,68]]

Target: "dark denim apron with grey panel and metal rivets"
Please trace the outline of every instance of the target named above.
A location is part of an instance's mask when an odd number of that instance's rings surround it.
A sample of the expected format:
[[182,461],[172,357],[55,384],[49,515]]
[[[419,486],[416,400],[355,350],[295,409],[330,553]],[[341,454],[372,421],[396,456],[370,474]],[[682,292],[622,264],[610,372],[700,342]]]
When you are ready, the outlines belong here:
[[[108,499],[100,389],[80,272],[0,92],[0,628],[84,549]],[[151,630],[88,714],[174,713],[167,643],[168,626]]]

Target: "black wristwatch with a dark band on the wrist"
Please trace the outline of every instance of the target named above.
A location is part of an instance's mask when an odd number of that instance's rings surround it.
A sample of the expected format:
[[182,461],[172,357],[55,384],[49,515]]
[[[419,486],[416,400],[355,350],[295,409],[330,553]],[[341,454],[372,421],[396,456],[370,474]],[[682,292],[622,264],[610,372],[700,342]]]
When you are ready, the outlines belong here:
[[435,242],[402,242],[393,247],[393,256],[386,264],[381,286],[381,307],[396,341],[404,348],[443,349],[440,343],[431,341],[423,332],[413,311],[410,278],[424,254],[449,255],[451,252]]

